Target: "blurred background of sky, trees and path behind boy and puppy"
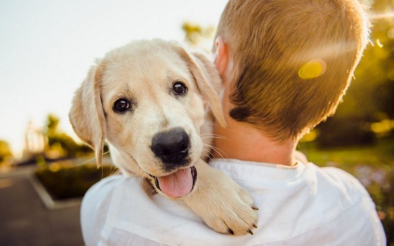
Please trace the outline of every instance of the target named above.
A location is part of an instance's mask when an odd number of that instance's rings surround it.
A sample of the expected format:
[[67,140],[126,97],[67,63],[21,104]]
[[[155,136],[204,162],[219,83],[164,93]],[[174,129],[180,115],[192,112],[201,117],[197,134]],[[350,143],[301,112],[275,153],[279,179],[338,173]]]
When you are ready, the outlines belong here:
[[[133,39],[209,51],[227,0],[0,2],[0,242],[82,245],[81,197],[97,169],[73,133],[74,91],[96,57]],[[337,113],[298,149],[356,176],[394,245],[394,0],[368,0],[373,29]]]

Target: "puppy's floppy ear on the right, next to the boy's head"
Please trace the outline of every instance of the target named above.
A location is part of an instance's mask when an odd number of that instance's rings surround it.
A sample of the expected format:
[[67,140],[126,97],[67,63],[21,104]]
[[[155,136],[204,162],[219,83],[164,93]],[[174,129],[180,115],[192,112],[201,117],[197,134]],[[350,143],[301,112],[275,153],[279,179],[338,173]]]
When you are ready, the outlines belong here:
[[203,54],[190,54],[179,46],[177,46],[176,49],[186,61],[203,96],[208,100],[208,104],[217,122],[222,127],[226,127],[222,103],[219,98],[222,80],[215,66]]

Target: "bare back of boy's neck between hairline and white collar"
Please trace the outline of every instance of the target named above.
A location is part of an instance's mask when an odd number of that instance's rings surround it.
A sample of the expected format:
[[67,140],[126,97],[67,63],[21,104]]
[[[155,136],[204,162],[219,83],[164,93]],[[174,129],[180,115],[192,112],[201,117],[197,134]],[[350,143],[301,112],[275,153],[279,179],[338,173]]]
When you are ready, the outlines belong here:
[[213,151],[215,158],[231,158],[256,162],[267,162],[286,166],[296,164],[294,152],[295,140],[282,143],[273,141],[249,124],[227,117],[227,128],[215,124]]

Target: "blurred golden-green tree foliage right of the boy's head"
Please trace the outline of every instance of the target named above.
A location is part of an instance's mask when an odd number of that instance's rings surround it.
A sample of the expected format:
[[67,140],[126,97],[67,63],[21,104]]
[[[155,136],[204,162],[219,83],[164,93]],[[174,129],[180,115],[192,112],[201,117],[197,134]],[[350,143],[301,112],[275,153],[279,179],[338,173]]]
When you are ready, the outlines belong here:
[[336,114],[318,126],[320,146],[371,144],[377,136],[372,123],[394,118],[393,6],[393,0],[371,2],[371,44]]

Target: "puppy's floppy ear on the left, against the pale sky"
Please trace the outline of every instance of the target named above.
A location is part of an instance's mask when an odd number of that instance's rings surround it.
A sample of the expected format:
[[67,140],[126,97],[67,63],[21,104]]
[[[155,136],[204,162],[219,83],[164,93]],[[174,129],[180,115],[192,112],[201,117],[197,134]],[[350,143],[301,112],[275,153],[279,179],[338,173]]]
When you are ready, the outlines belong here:
[[76,91],[69,113],[75,133],[95,151],[97,167],[101,165],[105,141],[105,116],[101,104],[101,79],[104,64],[93,65]]

